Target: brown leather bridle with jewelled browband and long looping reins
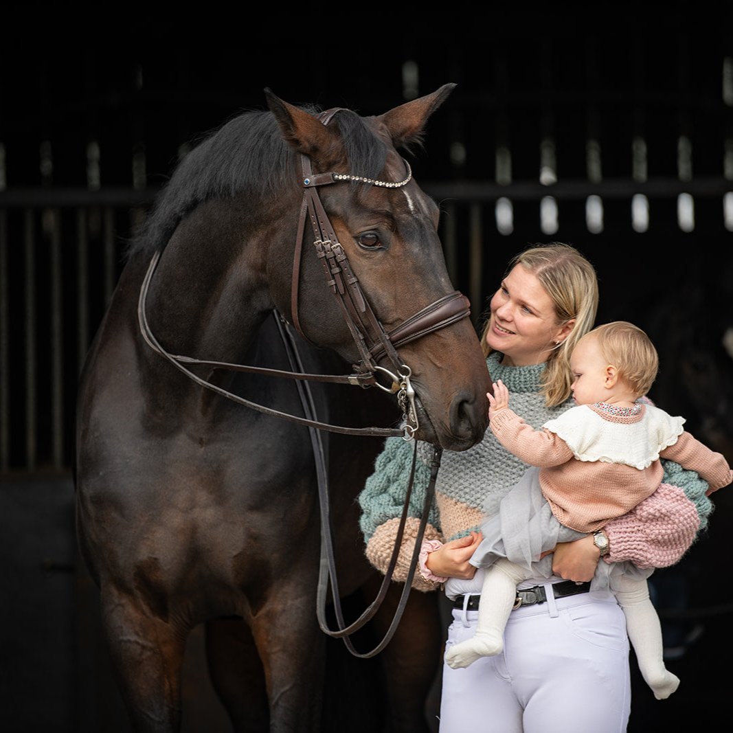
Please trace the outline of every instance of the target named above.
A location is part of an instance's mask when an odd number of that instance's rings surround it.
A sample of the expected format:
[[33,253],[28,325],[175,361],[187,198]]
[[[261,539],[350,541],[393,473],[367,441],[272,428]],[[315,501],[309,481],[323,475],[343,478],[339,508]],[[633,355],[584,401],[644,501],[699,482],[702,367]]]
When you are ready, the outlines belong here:
[[[339,111],[339,108],[334,108],[325,111],[320,114],[319,119],[324,125],[330,122],[334,114]],[[424,496],[424,507],[422,512],[421,523],[419,531],[416,537],[416,544],[413,550],[413,556],[410,561],[410,567],[408,570],[408,578],[405,581],[405,586],[402,590],[402,595],[399,600],[397,611],[395,611],[394,619],[388,628],[386,635],[383,640],[377,644],[375,649],[366,654],[360,654],[356,652],[356,649],[350,643],[347,638],[350,634],[355,633],[356,630],[364,626],[372,617],[376,614],[378,608],[383,602],[388,592],[389,584],[391,583],[392,574],[394,567],[397,565],[397,559],[399,556],[399,548],[402,542],[402,536],[404,534],[405,523],[408,518],[408,507],[410,504],[410,496],[413,490],[413,481],[415,474],[416,454],[417,454],[417,441],[414,442],[413,449],[413,460],[410,471],[410,481],[408,485],[407,494],[405,496],[405,506],[402,510],[402,516],[400,517],[399,527],[397,530],[397,539],[395,541],[394,550],[391,555],[390,562],[388,564],[387,572],[383,578],[383,582],[380,586],[380,590],[377,593],[375,600],[369,605],[364,614],[362,614],[356,622],[350,625],[346,625],[342,609],[339,601],[338,583],[336,580],[336,565],[333,554],[333,540],[332,540],[332,527],[330,517],[330,507],[328,501],[328,471],[326,469],[325,450],[323,447],[323,439],[320,434],[320,430],[327,430],[329,432],[339,432],[347,435],[369,435],[369,436],[384,436],[393,437],[401,436],[406,441],[413,439],[413,435],[418,430],[419,423],[417,419],[417,411],[415,408],[415,392],[410,383],[411,370],[402,360],[399,358],[397,353],[397,347],[405,345],[415,339],[421,338],[433,331],[438,331],[440,328],[444,328],[452,323],[457,322],[471,313],[470,303],[465,295],[461,294],[457,290],[444,295],[442,298],[438,298],[435,302],[429,306],[421,309],[416,314],[413,314],[401,324],[394,328],[392,331],[386,331],[383,325],[378,320],[376,314],[369,305],[369,301],[364,296],[361,287],[358,283],[356,275],[353,273],[350,263],[347,259],[344,248],[338,241],[336,231],[331,221],[328,218],[328,214],[323,208],[323,204],[320,201],[318,195],[318,188],[322,185],[330,185],[338,183],[340,181],[354,181],[357,183],[364,183],[368,185],[376,185],[383,188],[401,188],[407,185],[412,177],[410,166],[405,162],[407,169],[407,177],[398,182],[388,182],[367,179],[360,176],[354,176],[351,174],[338,174],[338,173],[317,173],[312,172],[311,161],[306,155],[301,155],[301,166],[303,170],[303,177],[301,183],[303,185],[303,201],[301,203],[300,217],[298,221],[298,233],[295,237],[295,251],[293,256],[293,267],[292,267],[292,288],[291,288],[291,312],[292,322],[298,334],[303,339],[309,341],[309,339],[303,334],[300,324],[300,318],[298,315],[298,294],[300,285],[300,271],[301,271],[301,259],[302,259],[302,245],[303,239],[305,238],[306,218],[311,221],[313,234],[314,234],[314,249],[317,257],[323,265],[323,270],[326,277],[326,284],[331,289],[336,297],[336,302],[339,303],[339,307],[342,311],[342,315],[347,323],[350,333],[353,337],[360,361],[358,364],[353,364],[353,373],[350,375],[318,375],[308,374],[303,372],[303,365],[301,358],[298,354],[298,347],[295,339],[288,328],[287,321],[278,312],[275,312],[276,322],[280,331],[281,339],[285,346],[285,350],[290,361],[291,371],[284,371],[281,369],[269,369],[265,367],[252,367],[243,364],[229,364],[222,361],[205,361],[188,356],[180,356],[169,353],[155,338],[152,334],[150,324],[147,320],[147,293],[150,290],[150,281],[152,280],[153,273],[158,266],[158,261],[161,257],[163,249],[159,249],[155,252],[152,257],[150,265],[148,266],[147,273],[143,279],[140,288],[139,300],[138,300],[138,321],[141,331],[147,345],[152,350],[158,353],[163,358],[166,358],[171,364],[177,369],[180,369],[185,375],[191,380],[194,380],[197,384],[202,387],[208,388],[215,391],[227,399],[231,399],[234,402],[238,402],[241,405],[245,405],[248,408],[258,410],[259,412],[276,416],[282,419],[305,425],[309,428],[312,448],[314,452],[314,460],[316,464],[316,474],[318,481],[318,493],[320,501],[320,515],[321,515],[321,560],[320,560],[320,572],[318,581],[317,591],[317,616],[318,622],[328,636],[335,638],[343,638],[349,651],[360,658],[369,658],[377,655],[384,647],[394,632],[397,630],[397,625],[402,617],[402,612],[405,609],[405,605],[408,601],[410,592],[410,586],[413,580],[414,573],[416,571],[417,562],[419,558],[419,552],[421,548],[422,538],[424,536],[424,529],[427,525],[427,517],[430,513],[430,506],[432,504],[432,498],[435,493],[435,479],[437,478],[438,468],[440,466],[440,459],[442,449],[439,446],[435,446],[432,465],[431,465],[431,477],[430,484],[428,485],[425,496]],[[386,367],[380,367],[377,364],[378,358],[386,358],[392,369],[386,369]],[[303,407],[304,417],[295,416],[290,413],[284,413],[279,410],[273,410],[272,408],[265,407],[265,405],[259,405],[257,402],[251,402],[248,399],[244,399],[237,394],[227,391],[224,388],[211,383],[208,380],[202,379],[191,369],[188,369],[187,365],[199,365],[205,367],[211,367],[213,369],[227,369],[235,372],[249,372],[256,374],[264,374],[276,377],[285,377],[295,379],[298,387],[298,394],[301,398],[301,405]],[[377,374],[383,375],[391,380],[390,386],[384,386],[377,380]],[[400,408],[402,408],[403,422],[405,427],[402,429],[397,428],[383,428],[383,427],[345,427],[340,425],[333,425],[323,423],[317,420],[316,410],[314,407],[314,400],[310,391],[309,382],[328,382],[328,383],[342,383],[350,384],[354,386],[361,386],[367,388],[369,386],[377,386],[383,391],[390,392],[392,394],[397,393],[397,401]],[[334,600],[334,611],[336,614],[336,621],[339,624],[339,629],[334,631],[328,627],[328,623],[325,618],[325,605],[326,595],[328,592],[328,581],[331,581],[331,595]]]

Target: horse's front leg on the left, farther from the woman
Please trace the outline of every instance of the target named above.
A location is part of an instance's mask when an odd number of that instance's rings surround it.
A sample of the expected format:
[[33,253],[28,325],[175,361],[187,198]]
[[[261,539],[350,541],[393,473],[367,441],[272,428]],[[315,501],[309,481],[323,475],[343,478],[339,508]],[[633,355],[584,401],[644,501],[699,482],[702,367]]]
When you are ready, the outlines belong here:
[[188,628],[153,615],[139,598],[103,583],[106,641],[133,730],[180,730],[180,676]]

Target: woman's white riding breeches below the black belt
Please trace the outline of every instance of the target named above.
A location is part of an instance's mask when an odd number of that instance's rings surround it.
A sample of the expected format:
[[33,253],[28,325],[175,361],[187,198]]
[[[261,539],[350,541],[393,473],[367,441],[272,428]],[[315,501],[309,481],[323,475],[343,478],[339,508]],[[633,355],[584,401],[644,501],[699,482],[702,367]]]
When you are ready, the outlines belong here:
[[[548,584],[549,585],[549,584]],[[446,649],[476,631],[453,609]],[[504,651],[443,664],[440,733],[623,733],[631,705],[625,617],[613,596],[581,593],[509,614]]]

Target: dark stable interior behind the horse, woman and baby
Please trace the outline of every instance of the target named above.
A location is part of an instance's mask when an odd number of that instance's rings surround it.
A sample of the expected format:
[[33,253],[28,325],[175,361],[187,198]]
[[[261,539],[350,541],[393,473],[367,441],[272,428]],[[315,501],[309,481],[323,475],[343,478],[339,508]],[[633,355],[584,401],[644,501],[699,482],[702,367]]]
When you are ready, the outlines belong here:
[[[155,191],[192,141],[240,111],[264,108],[265,86],[291,103],[380,114],[457,83],[410,163],[441,204],[449,270],[471,298],[476,325],[509,257],[529,243],[572,243],[598,270],[599,322],[631,320],[658,345],[652,397],[733,461],[733,347],[725,347],[733,325],[730,7],[600,3],[589,18],[581,3],[451,6],[430,15],[359,6],[349,22],[327,7],[278,7],[257,20],[216,6],[134,3],[105,12],[40,4],[4,11],[4,728],[126,730],[94,590],[75,551],[76,378],[125,240]],[[635,164],[641,141],[646,152]],[[510,152],[510,177],[496,162],[499,149]],[[639,194],[649,205],[644,231],[632,224]],[[693,201],[691,228],[678,218],[680,194]],[[546,196],[556,229],[542,229]],[[600,232],[586,221],[589,196],[603,203]],[[498,199],[512,203],[511,231],[497,224]],[[701,634],[668,660],[682,679],[671,699],[655,701],[636,679],[632,731],[712,724],[726,710],[729,676],[718,660],[732,646],[733,592],[719,568],[729,554],[731,502],[728,489],[716,495],[709,531],[677,568],[652,578],[667,646]],[[226,731],[197,633],[188,653],[185,729]]]

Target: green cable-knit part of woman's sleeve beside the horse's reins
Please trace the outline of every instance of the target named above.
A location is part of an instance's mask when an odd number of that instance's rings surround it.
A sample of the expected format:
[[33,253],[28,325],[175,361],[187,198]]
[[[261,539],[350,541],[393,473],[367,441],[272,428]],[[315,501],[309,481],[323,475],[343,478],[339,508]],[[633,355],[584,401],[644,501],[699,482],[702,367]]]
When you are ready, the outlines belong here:
[[[364,490],[358,497],[361,506],[359,525],[367,542],[378,526],[402,515],[410,481],[413,450],[412,441],[387,438],[383,451],[377,456],[374,473],[369,476]],[[425,489],[429,483],[430,468],[418,456],[408,517],[421,517]],[[430,509],[428,522],[439,529],[435,502]]]

